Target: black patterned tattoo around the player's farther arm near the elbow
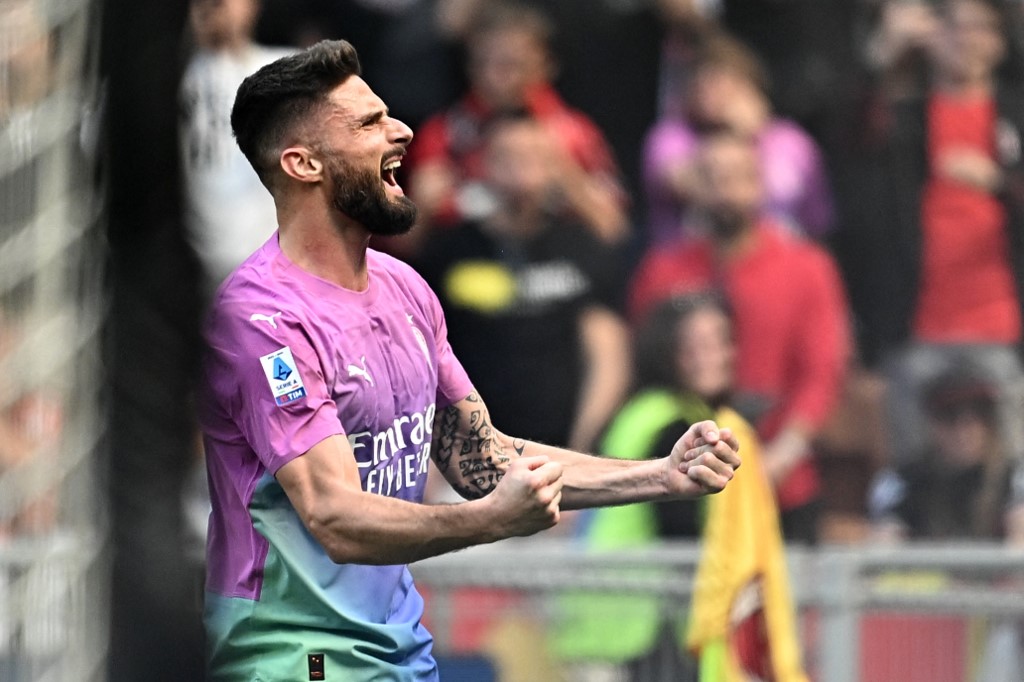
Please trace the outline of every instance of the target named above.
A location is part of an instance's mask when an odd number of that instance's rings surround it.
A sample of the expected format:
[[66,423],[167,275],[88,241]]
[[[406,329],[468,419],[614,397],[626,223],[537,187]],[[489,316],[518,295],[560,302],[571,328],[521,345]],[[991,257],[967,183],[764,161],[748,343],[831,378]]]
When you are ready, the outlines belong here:
[[466,398],[468,409],[450,406],[437,415],[434,425],[434,463],[452,486],[468,499],[481,498],[498,485],[513,456],[521,456],[525,441],[512,443],[506,452],[490,425],[487,409],[474,391]]

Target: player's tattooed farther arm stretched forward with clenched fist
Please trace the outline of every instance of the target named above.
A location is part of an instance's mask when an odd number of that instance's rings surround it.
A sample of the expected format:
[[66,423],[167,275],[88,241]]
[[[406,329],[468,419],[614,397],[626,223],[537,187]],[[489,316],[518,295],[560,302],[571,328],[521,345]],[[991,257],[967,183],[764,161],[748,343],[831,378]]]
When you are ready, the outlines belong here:
[[594,457],[498,431],[473,391],[437,413],[431,456],[467,499],[490,493],[515,458],[546,456],[563,467],[561,508],[569,510],[717,493],[739,466],[738,450],[728,429],[705,421],[691,426],[660,459]]

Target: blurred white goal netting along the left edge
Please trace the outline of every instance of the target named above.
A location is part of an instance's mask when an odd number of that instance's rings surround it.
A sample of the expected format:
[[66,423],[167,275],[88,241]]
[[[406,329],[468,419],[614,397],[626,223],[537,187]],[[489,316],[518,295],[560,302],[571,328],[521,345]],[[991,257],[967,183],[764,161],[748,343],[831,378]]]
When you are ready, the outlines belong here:
[[0,0],[0,680],[102,674],[88,0]]

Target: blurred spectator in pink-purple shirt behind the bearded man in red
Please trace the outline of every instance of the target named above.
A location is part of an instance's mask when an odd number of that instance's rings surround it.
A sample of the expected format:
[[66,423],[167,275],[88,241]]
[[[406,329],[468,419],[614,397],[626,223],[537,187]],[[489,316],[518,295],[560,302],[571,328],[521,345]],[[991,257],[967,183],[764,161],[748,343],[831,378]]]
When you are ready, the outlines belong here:
[[772,113],[768,79],[757,57],[725,35],[707,39],[693,61],[686,115],[667,117],[644,142],[649,239],[679,239],[699,179],[701,135],[728,130],[757,141],[764,209],[779,224],[820,238],[833,226],[831,194],[817,144],[796,123]]

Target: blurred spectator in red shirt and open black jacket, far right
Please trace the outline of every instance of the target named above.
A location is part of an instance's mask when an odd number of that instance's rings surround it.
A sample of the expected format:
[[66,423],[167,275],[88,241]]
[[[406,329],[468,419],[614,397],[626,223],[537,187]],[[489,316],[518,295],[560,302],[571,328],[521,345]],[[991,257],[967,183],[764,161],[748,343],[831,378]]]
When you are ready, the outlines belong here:
[[950,0],[928,93],[889,103],[844,189],[840,250],[866,364],[889,383],[891,456],[922,452],[922,387],[967,357],[999,382],[1019,455],[1024,94],[1000,77],[998,5]]

